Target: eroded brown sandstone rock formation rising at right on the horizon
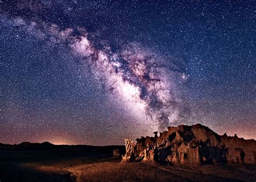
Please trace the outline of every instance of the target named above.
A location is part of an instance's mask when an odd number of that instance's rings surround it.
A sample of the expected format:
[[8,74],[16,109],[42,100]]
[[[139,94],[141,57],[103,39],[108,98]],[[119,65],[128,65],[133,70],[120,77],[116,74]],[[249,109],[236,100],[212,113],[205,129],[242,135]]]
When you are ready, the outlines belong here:
[[123,162],[150,164],[183,164],[187,166],[223,163],[256,163],[256,141],[237,136],[219,136],[209,128],[196,124],[169,127],[154,132],[154,137],[137,138],[137,144],[125,139]]

